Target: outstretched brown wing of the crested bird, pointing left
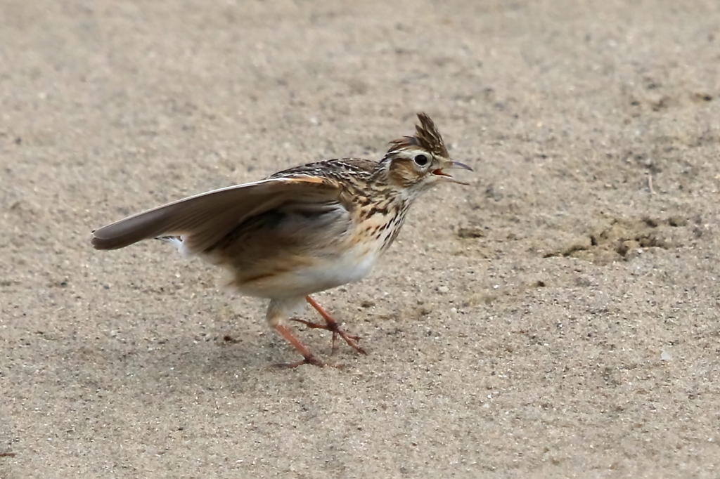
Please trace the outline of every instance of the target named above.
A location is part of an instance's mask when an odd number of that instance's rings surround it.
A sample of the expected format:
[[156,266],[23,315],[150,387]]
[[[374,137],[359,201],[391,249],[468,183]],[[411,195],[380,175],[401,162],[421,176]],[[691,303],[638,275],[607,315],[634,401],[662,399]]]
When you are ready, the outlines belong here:
[[135,214],[93,232],[96,250],[117,250],[143,239],[184,236],[187,252],[212,246],[249,217],[287,201],[340,201],[337,181],[316,176],[271,178],[230,186]]

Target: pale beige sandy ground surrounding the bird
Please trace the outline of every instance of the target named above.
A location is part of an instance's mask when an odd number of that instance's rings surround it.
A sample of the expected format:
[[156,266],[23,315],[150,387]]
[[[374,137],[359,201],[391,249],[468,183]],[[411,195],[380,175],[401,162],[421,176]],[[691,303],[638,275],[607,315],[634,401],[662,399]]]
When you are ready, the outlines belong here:
[[[716,1],[0,3],[0,477],[720,475]],[[91,229],[436,120],[318,295],[370,354]],[[310,311],[307,319],[313,318]],[[299,332],[328,357],[330,337]]]

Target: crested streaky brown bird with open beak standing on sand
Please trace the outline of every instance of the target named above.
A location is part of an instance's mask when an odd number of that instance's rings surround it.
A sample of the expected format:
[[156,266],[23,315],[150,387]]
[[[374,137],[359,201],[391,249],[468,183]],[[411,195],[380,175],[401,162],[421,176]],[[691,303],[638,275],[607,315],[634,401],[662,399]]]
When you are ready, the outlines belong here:
[[[183,257],[199,256],[229,273],[244,296],[269,300],[266,320],[302,356],[288,367],[322,367],[289,321],[327,329],[366,354],[310,295],[370,273],[395,241],[405,215],[438,183],[459,183],[433,120],[418,113],[415,133],[390,142],[381,160],[340,158],[279,171],[261,181],[220,188],[129,216],[92,232],[97,250],[161,239]],[[324,322],[294,318],[307,302]]]

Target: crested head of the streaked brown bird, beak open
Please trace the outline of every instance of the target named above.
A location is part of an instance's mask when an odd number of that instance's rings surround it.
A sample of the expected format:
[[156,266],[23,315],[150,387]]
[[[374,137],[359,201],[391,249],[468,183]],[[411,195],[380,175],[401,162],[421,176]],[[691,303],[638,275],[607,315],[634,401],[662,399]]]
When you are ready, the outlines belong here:
[[388,183],[409,193],[420,193],[441,182],[467,185],[453,178],[448,170],[472,168],[450,160],[443,138],[428,115],[418,113],[418,119],[415,134],[390,142],[390,149],[379,163]]

